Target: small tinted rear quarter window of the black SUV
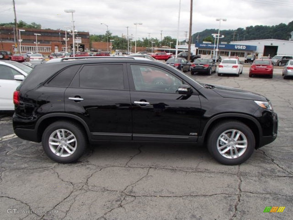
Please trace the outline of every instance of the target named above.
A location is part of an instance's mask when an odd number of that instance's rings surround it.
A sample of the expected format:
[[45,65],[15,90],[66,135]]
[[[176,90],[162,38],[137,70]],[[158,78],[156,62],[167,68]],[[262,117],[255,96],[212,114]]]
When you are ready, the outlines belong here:
[[80,65],[67,67],[59,72],[58,75],[51,79],[46,85],[54,87],[68,87],[79,67]]

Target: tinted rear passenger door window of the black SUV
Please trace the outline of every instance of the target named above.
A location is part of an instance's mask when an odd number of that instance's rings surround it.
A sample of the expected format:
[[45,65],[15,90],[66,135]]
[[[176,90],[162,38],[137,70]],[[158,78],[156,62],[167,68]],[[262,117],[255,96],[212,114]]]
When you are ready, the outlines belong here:
[[124,89],[123,65],[87,65],[79,73],[81,88]]

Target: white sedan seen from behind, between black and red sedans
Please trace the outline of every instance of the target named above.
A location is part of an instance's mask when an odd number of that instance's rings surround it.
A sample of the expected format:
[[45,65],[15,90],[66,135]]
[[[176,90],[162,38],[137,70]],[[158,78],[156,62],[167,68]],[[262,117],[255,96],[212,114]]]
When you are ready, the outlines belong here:
[[243,65],[237,58],[227,58],[223,59],[218,67],[218,76],[221,74],[242,74]]

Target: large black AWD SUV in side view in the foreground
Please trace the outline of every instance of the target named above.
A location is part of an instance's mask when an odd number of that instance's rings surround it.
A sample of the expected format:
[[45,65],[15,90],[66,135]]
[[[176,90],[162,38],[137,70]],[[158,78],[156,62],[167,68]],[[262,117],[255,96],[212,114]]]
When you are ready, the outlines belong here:
[[13,94],[16,135],[42,142],[59,163],[78,160],[89,143],[156,141],[206,145],[227,165],[277,137],[277,114],[259,94],[202,84],[162,62],[117,58],[35,66]]

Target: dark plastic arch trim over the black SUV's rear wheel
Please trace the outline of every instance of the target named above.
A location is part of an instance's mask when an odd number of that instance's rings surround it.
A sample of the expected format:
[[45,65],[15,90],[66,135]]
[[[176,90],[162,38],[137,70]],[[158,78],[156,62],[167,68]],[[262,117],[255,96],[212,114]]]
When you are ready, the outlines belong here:
[[76,115],[71,115],[67,113],[52,113],[52,114],[47,114],[43,116],[42,118],[40,118],[38,122],[36,123],[36,129],[38,131],[38,141],[41,142],[42,135],[48,125],[52,124],[55,121],[64,121],[64,120],[78,124],[82,129],[84,129],[87,135],[86,139],[89,142],[91,142],[91,139],[90,139],[91,133],[86,122]]

